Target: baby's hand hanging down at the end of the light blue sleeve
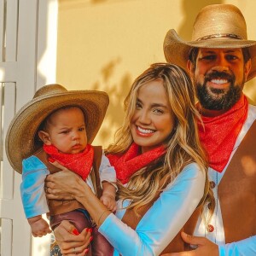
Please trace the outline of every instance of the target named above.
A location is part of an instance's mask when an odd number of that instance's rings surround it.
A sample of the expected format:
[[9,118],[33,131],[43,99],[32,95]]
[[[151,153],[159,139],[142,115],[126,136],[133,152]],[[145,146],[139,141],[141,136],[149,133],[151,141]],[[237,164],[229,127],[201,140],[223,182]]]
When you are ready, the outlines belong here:
[[33,236],[42,237],[51,233],[51,230],[49,229],[49,224],[47,223],[47,221],[44,220],[44,218],[38,218],[37,216],[33,218],[28,218],[27,220],[31,226]]

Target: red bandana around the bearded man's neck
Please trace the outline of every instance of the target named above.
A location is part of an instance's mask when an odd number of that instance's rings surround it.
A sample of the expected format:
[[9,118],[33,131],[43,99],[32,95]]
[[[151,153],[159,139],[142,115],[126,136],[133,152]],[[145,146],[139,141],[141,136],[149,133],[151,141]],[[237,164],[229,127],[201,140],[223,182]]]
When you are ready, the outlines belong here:
[[226,113],[216,117],[202,116],[204,127],[198,124],[201,143],[207,151],[209,166],[217,172],[222,172],[227,165],[247,113],[247,98],[242,95]]

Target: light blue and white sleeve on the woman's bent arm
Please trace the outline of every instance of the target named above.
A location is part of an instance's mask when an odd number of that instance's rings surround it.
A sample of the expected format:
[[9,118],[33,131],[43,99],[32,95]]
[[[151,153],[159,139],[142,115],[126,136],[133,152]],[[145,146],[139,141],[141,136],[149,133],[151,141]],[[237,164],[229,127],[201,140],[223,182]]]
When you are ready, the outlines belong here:
[[205,174],[195,164],[190,164],[160,194],[136,230],[111,214],[99,231],[123,255],[129,252],[130,255],[159,255],[195,211],[204,185]]

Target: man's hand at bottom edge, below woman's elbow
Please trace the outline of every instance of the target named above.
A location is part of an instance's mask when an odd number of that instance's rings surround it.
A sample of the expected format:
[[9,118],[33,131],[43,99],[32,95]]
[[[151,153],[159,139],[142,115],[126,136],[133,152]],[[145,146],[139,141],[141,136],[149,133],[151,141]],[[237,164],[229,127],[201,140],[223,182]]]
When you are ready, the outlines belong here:
[[195,250],[180,253],[166,253],[162,256],[218,256],[218,245],[201,236],[190,236],[184,232],[181,234],[183,241],[197,246]]

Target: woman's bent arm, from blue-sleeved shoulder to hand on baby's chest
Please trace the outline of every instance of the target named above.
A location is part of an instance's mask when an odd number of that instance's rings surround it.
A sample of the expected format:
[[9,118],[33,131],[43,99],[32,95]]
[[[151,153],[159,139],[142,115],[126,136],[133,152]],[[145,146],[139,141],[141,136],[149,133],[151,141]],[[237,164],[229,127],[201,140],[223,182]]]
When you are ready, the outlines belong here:
[[[70,175],[67,170],[59,173],[49,176],[47,186],[53,193],[66,190],[80,201],[100,226],[102,235],[123,255],[160,254],[195,211],[205,184],[205,174],[198,166],[186,166],[175,182],[166,187],[153,207],[143,216],[137,229],[132,230],[113,213],[110,214],[79,177]],[[58,174],[65,174],[66,177],[60,177],[57,182]]]

